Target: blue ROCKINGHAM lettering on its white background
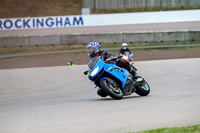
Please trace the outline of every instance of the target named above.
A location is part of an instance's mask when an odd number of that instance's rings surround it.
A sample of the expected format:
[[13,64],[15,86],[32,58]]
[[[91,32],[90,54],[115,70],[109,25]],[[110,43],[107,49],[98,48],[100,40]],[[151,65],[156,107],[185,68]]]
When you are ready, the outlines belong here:
[[0,30],[83,26],[81,16],[0,19]]

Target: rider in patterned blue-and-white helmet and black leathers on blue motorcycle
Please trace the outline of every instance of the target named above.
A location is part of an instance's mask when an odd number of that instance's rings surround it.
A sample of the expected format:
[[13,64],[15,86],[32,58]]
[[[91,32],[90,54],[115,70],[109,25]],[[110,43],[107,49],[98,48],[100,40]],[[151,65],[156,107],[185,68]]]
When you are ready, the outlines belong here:
[[[98,42],[90,42],[87,45],[87,49],[88,49],[88,55],[90,56],[90,58],[93,58],[93,57],[96,57],[96,56],[102,56],[104,61],[109,60],[109,59],[116,59],[116,65],[117,66],[127,69],[133,75],[133,77],[135,79],[138,78],[137,73],[132,68],[132,66],[129,62],[126,62],[123,58],[120,58],[120,59],[117,60],[116,55],[112,55],[111,53],[104,51],[104,50],[101,51],[100,50],[100,44]],[[102,97],[107,96],[104,92],[102,92],[101,89],[99,89],[97,91],[97,94],[102,96]]]

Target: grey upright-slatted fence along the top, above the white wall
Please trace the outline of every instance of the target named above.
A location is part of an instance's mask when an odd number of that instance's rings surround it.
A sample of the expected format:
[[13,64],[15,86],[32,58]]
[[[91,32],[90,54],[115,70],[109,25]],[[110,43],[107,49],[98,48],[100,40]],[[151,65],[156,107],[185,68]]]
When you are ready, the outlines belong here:
[[82,7],[90,9],[181,8],[198,6],[200,6],[200,0],[82,0]]

